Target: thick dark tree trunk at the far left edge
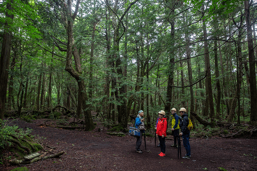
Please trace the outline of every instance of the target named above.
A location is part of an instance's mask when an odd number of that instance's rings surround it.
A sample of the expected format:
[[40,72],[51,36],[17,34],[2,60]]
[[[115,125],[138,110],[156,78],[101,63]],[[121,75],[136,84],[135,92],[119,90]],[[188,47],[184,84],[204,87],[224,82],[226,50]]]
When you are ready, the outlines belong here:
[[[7,3],[6,8],[8,11],[12,11],[12,3],[13,0],[10,0],[10,3]],[[5,22],[4,27],[5,30],[9,30],[10,24],[13,21],[13,15],[9,14],[9,12],[5,13],[6,18],[10,18],[9,22]],[[6,101],[6,89],[7,89],[7,81],[8,81],[8,69],[9,69],[9,62],[10,62],[10,53],[11,53],[11,43],[12,43],[12,32],[11,31],[4,31],[3,35],[3,44],[2,44],[2,51],[1,51],[1,58],[0,58],[0,119],[3,120],[4,112],[5,112],[5,101]]]

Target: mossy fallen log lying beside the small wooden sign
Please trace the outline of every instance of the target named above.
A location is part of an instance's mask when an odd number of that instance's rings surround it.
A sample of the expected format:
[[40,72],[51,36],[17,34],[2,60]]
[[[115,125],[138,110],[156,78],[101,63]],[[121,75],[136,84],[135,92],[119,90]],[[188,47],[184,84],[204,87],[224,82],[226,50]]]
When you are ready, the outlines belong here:
[[38,162],[40,160],[45,160],[45,159],[49,159],[49,158],[57,158],[61,155],[63,155],[65,151],[62,151],[62,152],[59,152],[57,154],[53,154],[53,155],[50,155],[50,156],[45,156],[45,157],[36,157],[36,158],[33,158],[32,160],[18,160],[18,159],[12,159],[9,161],[10,164],[13,164],[13,165],[25,165],[25,164],[32,164],[34,162]]

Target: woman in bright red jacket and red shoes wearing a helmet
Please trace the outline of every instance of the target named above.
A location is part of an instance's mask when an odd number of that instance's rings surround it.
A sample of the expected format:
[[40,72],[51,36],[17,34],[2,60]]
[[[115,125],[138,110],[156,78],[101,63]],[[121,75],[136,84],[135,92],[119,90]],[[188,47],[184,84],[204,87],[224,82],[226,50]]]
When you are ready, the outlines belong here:
[[156,136],[158,135],[159,141],[160,141],[160,147],[161,147],[161,153],[159,156],[163,157],[165,156],[165,138],[166,138],[166,130],[167,130],[167,118],[165,117],[165,112],[161,110],[158,112],[159,114],[159,120],[157,124],[156,129]]

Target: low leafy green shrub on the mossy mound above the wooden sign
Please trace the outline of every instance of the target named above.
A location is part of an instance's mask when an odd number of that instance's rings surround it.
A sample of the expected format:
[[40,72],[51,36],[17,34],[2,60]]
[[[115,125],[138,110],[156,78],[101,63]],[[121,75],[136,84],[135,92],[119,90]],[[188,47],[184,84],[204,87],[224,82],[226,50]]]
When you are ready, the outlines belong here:
[[8,126],[11,122],[8,122],[8,120],[0,120],[0,124],[2,125],[2,129],[0,129],[0,147],[10,147],[12,145],[11,142],[8,141],[11,136],[24,138],[26,135],[29,135],[32,131],[32,129],[27,128],[26,130],[23,130],[19,128],[18,126]]

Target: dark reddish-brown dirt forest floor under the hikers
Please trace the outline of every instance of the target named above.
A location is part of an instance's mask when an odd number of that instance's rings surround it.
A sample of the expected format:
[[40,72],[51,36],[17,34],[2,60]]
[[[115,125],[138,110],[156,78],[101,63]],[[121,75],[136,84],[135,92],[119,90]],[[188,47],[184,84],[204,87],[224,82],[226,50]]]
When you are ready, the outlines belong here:
[[[60,129],[39,124],[54,124],[54,120],[38,119],[33,123],[14,120],[12,124],[19,128],[33,129],[32,135],[42,138],[41,142],[55,147],[54,153],[65,151],[59,158],[46,159],[29,165],[10,165],[2,161],[0,170],[9,171],[17,167],[27,167],[30,171],[59,170],[257,170],[257,139],[256,138],[190,138],[191,158],[181,159],[177,156],[177,148],[173,144],[173,136],[166,140],[166,156],[160,157],[160,147],[155,147],[154,137],[146,137],[141,149],[143,154],[136,153],[136,138],[106,134],[107,128],[97,125],[92,131]],[[99,128],[101,129],[99,132]],[[153,133],[152,133],[153,134]],[[157,143],[158,145],[158,143]],[[186,150],[182,144],[182,157]],[[49,149],[48,149],[49,150]],[[14,154],[6,149],[4,155]],[[43,151],[41,152],[43,153]]]

